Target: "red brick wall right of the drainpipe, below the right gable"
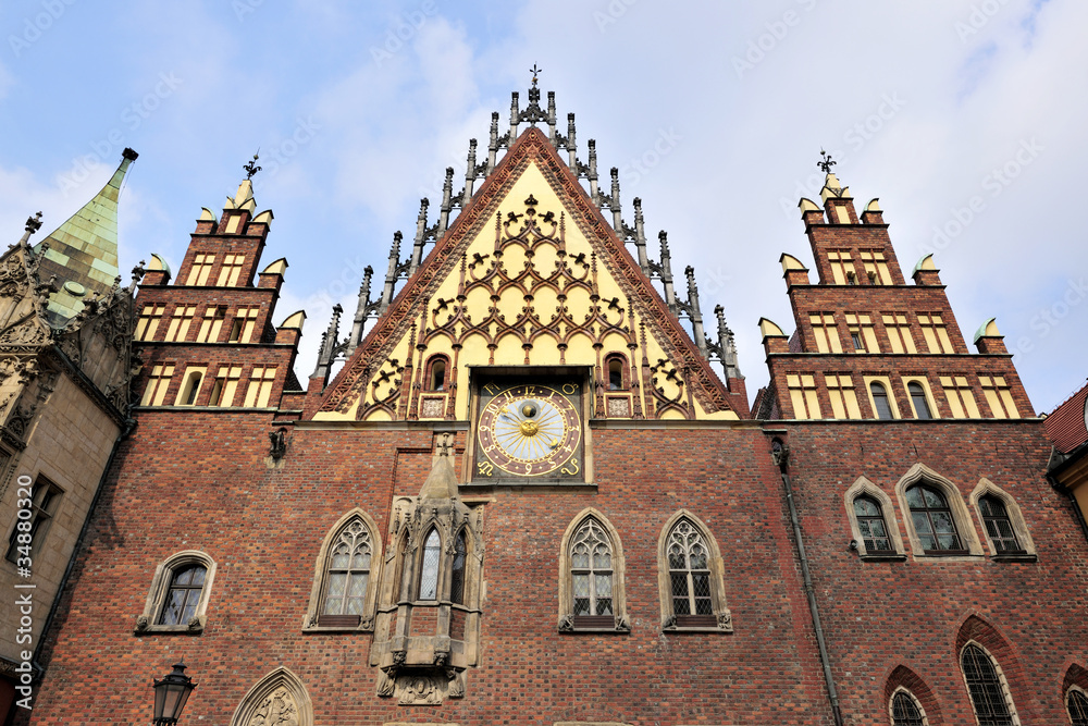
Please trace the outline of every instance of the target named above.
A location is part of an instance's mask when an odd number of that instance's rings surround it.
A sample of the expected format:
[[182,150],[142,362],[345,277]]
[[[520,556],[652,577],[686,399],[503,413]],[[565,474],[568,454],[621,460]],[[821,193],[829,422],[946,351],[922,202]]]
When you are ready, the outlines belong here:
[[[1061,684],[1071,659],[1084,664],[1088,656],[1088,543],[1065,499],[1043,480],[1049,453],[1043,424],[786,428],[795,500],[848,723],[888,723],[888,698],[902,684],[919,698],[930,724],[974,724],[959,667],[960,650],[969,639],[997,659],[1022,723],[1068,723]],[[985,556],[913,556],[895,484],[916,463],[954,482]],[[863,562],[848,547],[843,493],[861,476],[892,499],[906,562]],[[989,556],[986,533],[969,504],[982,477],[1016,500],[1038,562],[993,562]],[[907,674],[925,688],[919,691]],[[931,691],[929,703],[925,691]],[[934,721],[934,707],[942,721]]]

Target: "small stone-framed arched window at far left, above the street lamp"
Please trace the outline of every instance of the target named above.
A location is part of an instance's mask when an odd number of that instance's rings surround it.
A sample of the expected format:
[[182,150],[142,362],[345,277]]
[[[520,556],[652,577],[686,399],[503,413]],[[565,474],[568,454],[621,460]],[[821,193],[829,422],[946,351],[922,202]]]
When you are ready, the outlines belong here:
[[186,550],[168,557],[156,567],[144,612],[136,618],[136,635],[203,630],[214,579],[215,562],[203,552]]

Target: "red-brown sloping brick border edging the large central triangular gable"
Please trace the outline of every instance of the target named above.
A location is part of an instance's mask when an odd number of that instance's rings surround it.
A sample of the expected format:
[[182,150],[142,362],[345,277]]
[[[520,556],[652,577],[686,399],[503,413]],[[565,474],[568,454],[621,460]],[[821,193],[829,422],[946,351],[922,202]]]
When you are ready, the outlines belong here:
[[[440,286],[450,275],[456,274],[469,246],[480,237],[485,227],[496,224],[496,214],[500,213],[500,206],[504,202],[514,202],[519,211],[522,209],[524,202],[512,199],[510,192],[533,162],[562,207],[561,210],[548,211],[561,211],[585,236],[595,261],[604,264],[607,273],[631,300],[634,308],[632,312],[635,313],[634,317],[640,325],[645,327],[645,332],[660,346],[669,359],[668,362],[680,371],[691,396],[703,411],[728,413],[735,416],[729,405],[726,387],[710,369],[708,361],[700,355],[687,331],[669,311],[650,279],[623,247],[622,242],[578,180],[570,173],[568,164],[559,158],[547,136],[535,126],[529,127],[519,136],[480,190],[466,205],[453,227],[437,241],[420,269],[367,334],[326,389],[319,408],[320,413],[348,413],[378,373],[382,361],[388,359],[394,348],[406,337],[416,334],[417,321],[423,312],[421,306],[435,298]],[[638,334],[633,322],[631,333],[632,339]],[[629,347],[633,349],[634,346]],[[644,339],[642,348],[645,350]],[[632,362],[638,365],[638,361]],[[465,364],[466,361],[462,361],[462,365]],[[648,368],[645,358],[642,365],[644,369]],[[689,408],[688,417],[694,418],[693,407]]]

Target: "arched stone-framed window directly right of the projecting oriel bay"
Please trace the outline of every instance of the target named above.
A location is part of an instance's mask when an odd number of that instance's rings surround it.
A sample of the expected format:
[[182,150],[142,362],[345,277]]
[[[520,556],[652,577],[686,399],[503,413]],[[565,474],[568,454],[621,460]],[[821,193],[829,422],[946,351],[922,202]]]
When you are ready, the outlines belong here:
[[559,546],[559,630],[629,632],[626,565],[619,533],[590,507],[574,517]]

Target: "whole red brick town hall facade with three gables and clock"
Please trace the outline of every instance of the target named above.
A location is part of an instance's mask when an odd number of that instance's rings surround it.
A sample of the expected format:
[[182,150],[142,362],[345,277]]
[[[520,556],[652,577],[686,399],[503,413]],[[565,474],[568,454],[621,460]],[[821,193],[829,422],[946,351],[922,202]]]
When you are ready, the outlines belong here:
[[1088,710],[1088,541],[996,324],[969,353],[932,260],[907,284],[829,173],[750,410],[720,308],[707,335],[641,201],[529,100],[305,390],[248,181],[150,266],[137,426],[20,723],[146,719],[180,657],[183,723],[232,726]]

